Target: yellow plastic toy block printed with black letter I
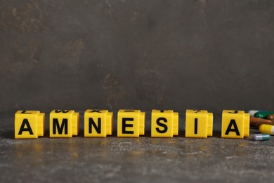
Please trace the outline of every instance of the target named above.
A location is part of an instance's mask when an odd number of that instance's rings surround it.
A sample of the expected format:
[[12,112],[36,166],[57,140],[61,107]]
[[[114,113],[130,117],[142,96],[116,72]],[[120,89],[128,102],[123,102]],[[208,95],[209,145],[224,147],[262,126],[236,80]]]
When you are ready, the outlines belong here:
[[203,110],[186,110],[185,137],[207,138],[213,133],[213,114]]

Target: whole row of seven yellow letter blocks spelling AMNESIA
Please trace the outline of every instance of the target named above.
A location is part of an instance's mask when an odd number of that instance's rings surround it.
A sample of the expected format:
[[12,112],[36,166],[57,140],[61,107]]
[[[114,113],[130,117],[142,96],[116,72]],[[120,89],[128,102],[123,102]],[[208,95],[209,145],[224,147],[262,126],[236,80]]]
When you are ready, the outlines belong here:
[[[249,113],[223,110],[222,138],[242,139],[249,136]],[[15,113],[15,139],[36,139],[44,136],[45,113],[18,111]],[[84,137],[112,135],[113,113],[88,109],[84,113]],[[53,110],[49,119],[49,137],[72,137],[79,133],[79,113],[73,110]],[[117,137],[139,137],[145,134],[145,113],[140,110],[119,110]],[[213,113],[186,110],[185,137],[207,138],[213,134]],[[172,110],[152,110],[151,137],[178,135],[178,113]]]

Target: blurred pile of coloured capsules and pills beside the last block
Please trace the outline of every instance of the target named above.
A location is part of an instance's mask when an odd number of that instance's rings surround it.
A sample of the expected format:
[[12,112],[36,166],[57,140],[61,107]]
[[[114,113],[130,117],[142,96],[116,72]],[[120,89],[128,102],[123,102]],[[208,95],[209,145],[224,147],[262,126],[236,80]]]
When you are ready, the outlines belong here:
[[250,126],[259,129],[261,134],[252,135],[254,141],[267,141],[274,135],[274,111],[249,111]]

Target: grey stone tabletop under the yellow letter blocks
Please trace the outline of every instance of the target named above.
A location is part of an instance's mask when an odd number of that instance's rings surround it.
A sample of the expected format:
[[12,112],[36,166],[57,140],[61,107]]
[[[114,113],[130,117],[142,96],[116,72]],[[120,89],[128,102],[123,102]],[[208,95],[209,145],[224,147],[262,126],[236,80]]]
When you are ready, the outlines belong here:
[[151,138],[150,113],[139,138],[85,138],[83,113],[79,136],[49,138],[46,113],[44,137],[14,139],[14,113],[0,114],[0,182],[270,182],[274,175],[273,137],[222,139],[220,113],[207,139],[183,137],[183,115],[178,137]]

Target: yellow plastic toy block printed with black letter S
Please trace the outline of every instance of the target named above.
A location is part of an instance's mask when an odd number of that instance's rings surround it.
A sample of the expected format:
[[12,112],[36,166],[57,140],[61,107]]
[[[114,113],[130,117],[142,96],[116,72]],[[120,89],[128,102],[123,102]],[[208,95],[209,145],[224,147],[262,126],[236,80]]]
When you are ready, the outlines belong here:
[[178,113],[172,110],[152,110],[151,137],[173,137],[178,135]]

